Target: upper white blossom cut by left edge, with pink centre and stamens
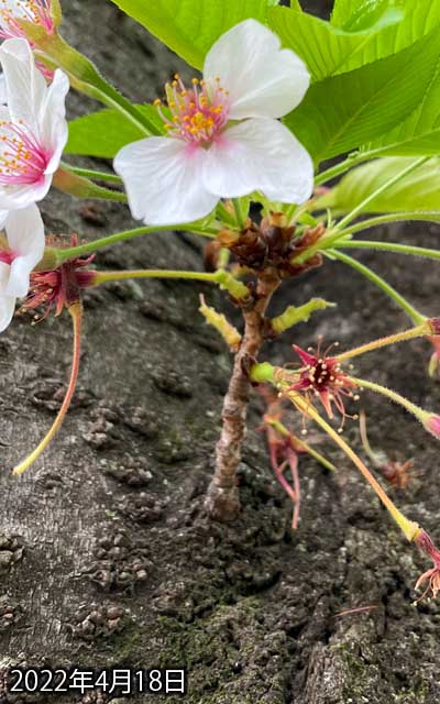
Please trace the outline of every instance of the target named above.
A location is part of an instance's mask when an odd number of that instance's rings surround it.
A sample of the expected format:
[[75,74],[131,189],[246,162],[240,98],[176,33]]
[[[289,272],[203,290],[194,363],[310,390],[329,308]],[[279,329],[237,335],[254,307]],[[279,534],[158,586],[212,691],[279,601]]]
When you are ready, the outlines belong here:
[[0,107],[0,209],[42,200],[51,188],[67,142],[67,76],[51,86],[35,66],[30,44],[7,40],[0,47],[7,107]]

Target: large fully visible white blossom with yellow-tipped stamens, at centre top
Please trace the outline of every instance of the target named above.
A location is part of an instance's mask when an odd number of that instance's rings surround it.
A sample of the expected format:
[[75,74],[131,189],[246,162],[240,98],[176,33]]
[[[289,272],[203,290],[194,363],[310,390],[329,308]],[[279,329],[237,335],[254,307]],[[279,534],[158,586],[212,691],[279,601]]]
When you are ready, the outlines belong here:
[[118,153],[134,218],[177,224],[207,216],[220,198],[261,191],[301,204],[312,191],[305,147],[278,118],[302,100],[309,74],[298,56],[255,20],[223,34],[208,53],[204,79],[166,87],[166,136],[151,136]]

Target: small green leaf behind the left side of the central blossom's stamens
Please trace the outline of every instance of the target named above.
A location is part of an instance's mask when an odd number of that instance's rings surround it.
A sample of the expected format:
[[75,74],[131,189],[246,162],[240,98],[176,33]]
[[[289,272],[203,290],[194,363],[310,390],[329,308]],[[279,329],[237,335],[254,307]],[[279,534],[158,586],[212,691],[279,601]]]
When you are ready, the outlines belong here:
[[[138,106],[162,133],[164,122],[153,106]],[[117,110],[100,110],[69,123],[66,154],[85,154],[112,158],[125,144],[142,140],[145,133],[138,130]]]

